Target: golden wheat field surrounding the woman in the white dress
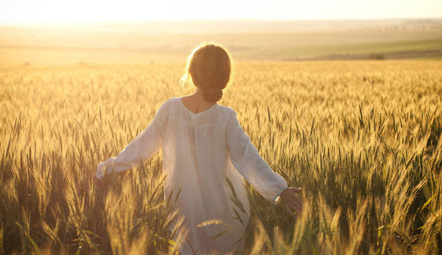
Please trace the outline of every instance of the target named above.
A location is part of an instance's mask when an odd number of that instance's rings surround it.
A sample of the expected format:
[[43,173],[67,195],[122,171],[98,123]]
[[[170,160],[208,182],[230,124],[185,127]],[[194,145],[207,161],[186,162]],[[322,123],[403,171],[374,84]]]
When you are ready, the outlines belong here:
[[[247,183],[246,254],[440,254],[442,62],[238,62],[218,103],[303,187],[294,218]],[[184,63],[0,68],[0,254],[177,254],[161,152],[102,186]]]

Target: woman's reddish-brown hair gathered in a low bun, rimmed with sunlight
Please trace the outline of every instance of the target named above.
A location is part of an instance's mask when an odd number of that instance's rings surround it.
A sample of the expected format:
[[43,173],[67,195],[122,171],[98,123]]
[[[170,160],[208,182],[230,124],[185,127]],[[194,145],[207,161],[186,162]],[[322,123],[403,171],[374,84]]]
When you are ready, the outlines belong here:
[[180,81],[184,84],[189,79],[203,90],[204,99],[216,102],[222,99],[222,90],[231,81],[231,54],[224,45],[214,42],[203,42],[194,48],[187,58],[184,75]]

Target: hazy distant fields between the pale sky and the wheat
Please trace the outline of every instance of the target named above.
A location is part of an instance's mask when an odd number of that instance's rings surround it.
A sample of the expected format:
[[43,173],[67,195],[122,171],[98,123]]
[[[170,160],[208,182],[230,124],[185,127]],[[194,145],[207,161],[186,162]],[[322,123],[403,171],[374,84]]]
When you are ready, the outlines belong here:
[[[32,65],[53,61],[68,64],[185,61],[191,49],[202,41],[226,45],[238,61],[440,59],[441,23],[434,21],[431,26],[426,23],[425,26],[419,23],[419,26],[415,23],[411,23],[413,26],[409,23],[363,26],[363,23],[358,23],[358,26],[347,29],[325,23],[323,26],[327,25],[327,29],[307,26],[306,30],[301,30],[302,24],[298,24],[296,29],[287,28],[288,32],[284,32],[280,23],[265,23],[262,30],[252,29],[248,23],[245,28],[250,29],[249,32],[229,32],[224,25],[222,30],[204,28],[208,30],[204,33],[202,28],[183,28],[187,31],[185,34],[178,33],[177,29],[175,33],[153,33],[152,27],[148,27],[151,30],[143,30],[135,25],[120,25],[113,29],[0,27],[0,62]],[[339,24],[344,26],[344,23]],[[233,27],[233,24],[230,26]]]

